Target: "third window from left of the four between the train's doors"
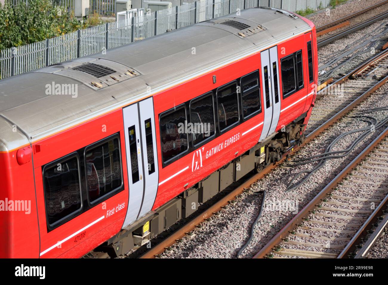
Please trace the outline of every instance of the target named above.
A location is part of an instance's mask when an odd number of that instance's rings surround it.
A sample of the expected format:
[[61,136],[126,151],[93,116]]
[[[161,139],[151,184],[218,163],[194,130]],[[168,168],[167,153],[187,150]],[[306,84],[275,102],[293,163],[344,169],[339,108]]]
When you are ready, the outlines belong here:
[[239,107],[237,99],[237,84],[232,83],[217,90],[218,124],[220,130],[232,126],[239,121]]

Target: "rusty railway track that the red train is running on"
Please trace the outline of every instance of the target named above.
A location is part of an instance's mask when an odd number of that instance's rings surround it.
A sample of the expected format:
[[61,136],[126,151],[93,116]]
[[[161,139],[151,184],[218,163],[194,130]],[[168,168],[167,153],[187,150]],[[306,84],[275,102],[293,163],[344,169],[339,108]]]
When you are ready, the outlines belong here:
[[[388,76],[387,76],[388,69],[386,67],[386,65],[388,65],[388,62],[386,61],[387,58],[388,58],[388,50],[385,52],[382,52],[381,54],[377,55],[376,57],[369,60],[368,62],[365,62],[365,64],[358,67],[357,69],[354,69],[350,73],[346,74],[346,76],[343,76],[342,78],[336,80],[333,84],[322,88],[323,92],[321,92],[318,95],[318,100],[316,101],[317,102],[316,106],[318,107],[320,106],[319,101],[327,95],[327,94],[326,95],[324,94],[324,91],[331,88],[331,86],[338,85],[345,81],[347,82],[350,78],[352,78],[352,80],[350,81],[365,80],[364,84],[361,87],[357,88],[357,91],[354,91],[354,92],[349,91],[348,96],[344,96],[340,107],[338,106],[336,107],[335,104],[331,104],[330,107],[328,107],[328,109],[325,109],[326,111],[324,113],[324,117],[322,117],[322,114],[323,114],[322,108],[313,109],[313,110],[316,110],[316,111],[313,111],[313,114],[312,114],[312,117],[316,118],[316,121],[314,121],[315,123],[314,127],[308,129],[309,134],[306,137],[305,142],[303,142],[303,144],[300,147],[295,147],[293,150],[290,150],[289,152],[287,152],[284,155],[284,157],[281,159],[281,161],[273,165],[267,166],[265,169],[263,169],[262,172],[248,178],[248,180],[244,181],[239,187],[237,187],[235,190],[225,195],[222,199],[215,202],[215,204],[213,204],[208,209],[204,210],[201,214],[196,216],[196,218],[192,219],[191,221],[183,225],[181,228],[173,232],[171,235],[163,239],[158,244],[154,245],[150,250],[142,254],[140,258],[153,258],[155,256],[158,256],[158,254],[165,251],[166,249],[169,249],[169,247],[175,242],[177,241],[180,242],[180,239],[182,237],[187,235],[190,231],[194,230],[194,228],[196,228],[200,223],[209,219],[213,214],[217,213],[225,205],[229,203],[233,203],[233,200],[244,191],[244,188],[249,187],[249,185],[254,183],[256,180],[259,180],[263,178],[266,174],[270,173],[272,169],[276,168],[279,164],[284,162],[288,155],[298,151],[301,147],[303,147],[305,144],[313,140],[320,133],[324,132],[324,130],[328,126],[335,123],[344,114],[346,114],[351,109],[353,109],[357,104],[359,104],[362,100],[368,97],[376,89],[384,85],[385,82],[388,80]],[[381,68],[376,68],[377,65],[380,66],[381,64],[383,64],[384,66]],[[375,75],[374,76],[375,79],[373,80],[369,76],[371,75],[371,72],[373,72],[373,74]],[[365,75],[367,76],[365,77]],[[369,80],[367,78],[368,76],[369,76]],[[355,89],[354,86],[353,86],[353,89]],[[324,123],[320,124],[322,123],[322,121],[324,121]]]

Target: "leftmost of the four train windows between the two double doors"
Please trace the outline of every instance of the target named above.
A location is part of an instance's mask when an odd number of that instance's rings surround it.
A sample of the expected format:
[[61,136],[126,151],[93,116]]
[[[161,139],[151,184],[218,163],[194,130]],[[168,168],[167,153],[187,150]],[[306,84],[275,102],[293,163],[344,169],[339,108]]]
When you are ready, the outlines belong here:
[[160,117],[163,162],[169,161],[187,150],[187,134],[184,133],[186,120],[184,107]]

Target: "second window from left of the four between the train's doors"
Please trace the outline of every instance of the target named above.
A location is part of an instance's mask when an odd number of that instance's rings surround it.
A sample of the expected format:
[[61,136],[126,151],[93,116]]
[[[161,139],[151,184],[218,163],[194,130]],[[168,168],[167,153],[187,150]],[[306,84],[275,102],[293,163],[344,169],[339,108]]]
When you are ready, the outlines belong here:
[[190,103],[190,120],[193,144],[197,145],[215,134],[213,93],[204,95]]

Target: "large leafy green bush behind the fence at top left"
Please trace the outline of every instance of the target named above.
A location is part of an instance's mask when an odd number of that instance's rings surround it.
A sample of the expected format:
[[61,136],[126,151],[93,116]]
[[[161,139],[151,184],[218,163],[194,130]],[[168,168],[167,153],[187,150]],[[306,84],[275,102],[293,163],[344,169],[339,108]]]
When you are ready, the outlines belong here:
[[85,28],[64,7],[50,0],[19,1],[15,7],[0,4],[0,49],[35,43]]

